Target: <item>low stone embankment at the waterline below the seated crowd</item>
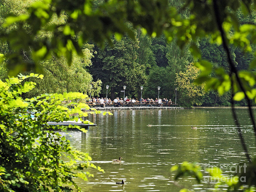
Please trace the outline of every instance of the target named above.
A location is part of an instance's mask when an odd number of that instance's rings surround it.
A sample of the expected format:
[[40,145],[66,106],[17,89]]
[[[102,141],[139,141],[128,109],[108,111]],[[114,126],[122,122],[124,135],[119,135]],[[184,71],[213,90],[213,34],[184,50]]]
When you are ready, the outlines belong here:
[[[92,107],[93,108],[93,107]],[[97,107],[99,111],[112,111],[112,110],[142,110],[142,109],[184,109],[183,107]]]

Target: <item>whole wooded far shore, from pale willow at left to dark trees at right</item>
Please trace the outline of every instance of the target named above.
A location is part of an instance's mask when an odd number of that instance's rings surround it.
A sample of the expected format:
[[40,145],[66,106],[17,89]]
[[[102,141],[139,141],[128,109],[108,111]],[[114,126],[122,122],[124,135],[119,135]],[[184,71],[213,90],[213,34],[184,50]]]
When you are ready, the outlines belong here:
[[[20,15],[32,0],[16,1],[4,0],[1,4],[0,22],[9,15]],[[93,1],[97,7],[103,1]],[[189,9],[183,8],[183,2],[169,0],[171,6],[175,6],[181,17],[189,16]],[[244,17],[241,11],[236,12],[240,24],[256,23],[255,12]],[[55,20],[52,24],[65,22],[65,14]],[[129,24],[128,24],[129,26]],[[131,27],[132,29],[132,27]],[[1,28],[1,31],[8,32],[9,28]],[[106,85],[110,86],[109,97],[122,97],[123,86],[127,86],[125,95],[140,98],[140,86],[143,86],[144,98],[156,98],[157,87],[160,86],[160,98],[175,100],[175,88],[177,87],[177,103],[182,106],[230,106],[231,93],[226,92],[222,96],[214,90],[204,90],[203,86],[196,86],[193,81],[199,76],[193,63],[197,62],[191,54],[189,45],[180,49],[177,40],[168,40],[164,34],[159,37],[148,36],[143,28],[133,30],[135,39],[130,35],[123,37],[115,34],[98,46],[94,42],[84,44],[83,56],[72,56],[72,63],[63,57],[51,57],[44,59],[37,69],[30,69],[29,65],[23,68],[15,68],[13,63],[5,60],[0,66],[0,78],[5,79],[9,72],[30,73],[35,70],[44,74],[43,80],[36,80],[38,86],[33,92],[24,94],[24,97],[36,96],[40,93],[63,93],[79,91],[92,96],[106,97]],[[230,29],[232,33],[232,29]],[[52,36],[41,31],[39,36]],[[202,59],[208,60],[213,67],[223,67],[229,71],[229,65],[225,57],[225,51],[220,44],[212,44],[210,38],[198,39],[194,44],[201,51]],[[255,47],[251,45],[253,49]],[[12,52],[9,42],[0,42],[0,53]],[[244,53],[240,48],[230,46],[232,59],[239,70],[247,69],[253,58],[252,50]],[[30,60],[34,56],[30,50],[23,50],[23,59]],[[214,73],[211,74],[215,76]],[[236,102],[237,105],[246,105],[244,100]]]

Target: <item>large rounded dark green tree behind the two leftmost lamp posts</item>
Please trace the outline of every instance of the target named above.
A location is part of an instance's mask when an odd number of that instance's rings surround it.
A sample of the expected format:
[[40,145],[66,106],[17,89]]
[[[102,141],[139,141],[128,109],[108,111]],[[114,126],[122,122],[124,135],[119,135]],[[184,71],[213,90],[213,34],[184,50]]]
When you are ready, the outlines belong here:
[[[110,86],[113,100],[115,92],[120,92],[124,85],[127,90],[135,90],[138,83],[136,76],[140,76],[139,71],[135,73],[135,70],[139,68],[145,71],[145,68],[136,62],[139,48],[137,40],[124,36],[120,41],[112,38],[112,44],[114,46],[106,44],[104,50],[97,49],[97,54],[92,59],[93,66],[89,70],[94,79],[102,80],[103,87]],[[143,79],[141,81],[145,81]]]

